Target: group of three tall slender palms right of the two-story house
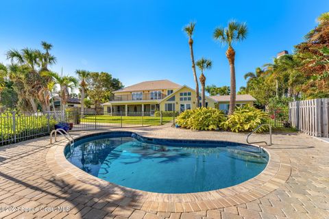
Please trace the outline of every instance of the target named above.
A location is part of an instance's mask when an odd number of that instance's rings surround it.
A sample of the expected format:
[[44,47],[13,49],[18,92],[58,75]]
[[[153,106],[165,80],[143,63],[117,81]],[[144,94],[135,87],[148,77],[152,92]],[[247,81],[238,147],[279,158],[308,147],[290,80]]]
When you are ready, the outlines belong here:
[[[191,22],[186,27],[184,27],[184,31],[188,36],[188,44],[190,47],[190,55],[191,55],[191,62],[192,62],[192,70],[193,70],[193,77],[195,81],[195,92],[196,92],[196,103],[199,106],[199,83],[197,81],[197,73],[195,71],[195,61],[194,61],[194,53],[193,53],[193,32],[195,29],[195,23]],[[226,57],[228,58],[228,62],[230,64],[230,110],[229,114],[232,114],[235,109],[235,101],[236,101],[236,79],[235,79],[235,51],[232,47],[234,42],[239,42],[244,40],[247,37],[247,25],[245,23],[238,23],[236,21],[230,21],[228,23],[228,27],[217,27],[213,33],[213,38],[218,40],[222,44],[228,45],[228,50],[226,51]],[[206,60],[202,58],[201,60],[197,61],[197,66],[201,72],[199,77],[199,81],[202,86],[202,107],[206,106],[205,101],[205,81],[206,77],[204,76],[204,70],[211,68],[212,62],[211,60]]]

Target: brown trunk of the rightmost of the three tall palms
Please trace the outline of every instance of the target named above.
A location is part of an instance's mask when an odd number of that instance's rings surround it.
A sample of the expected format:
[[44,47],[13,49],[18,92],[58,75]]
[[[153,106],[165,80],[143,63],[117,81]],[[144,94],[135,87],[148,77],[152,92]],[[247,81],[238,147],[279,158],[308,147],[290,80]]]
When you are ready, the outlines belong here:
[[235,79],[235,66],[234,66],[235,51],[232,47],[228,47],[228,51],[226,51],[226,57],[228,57],[228,62],[230,63],[230,74],[231,74],[230,108],[228,110],[228,114],[232,115],[235,110],[235,101],[236,101],[236,79]]

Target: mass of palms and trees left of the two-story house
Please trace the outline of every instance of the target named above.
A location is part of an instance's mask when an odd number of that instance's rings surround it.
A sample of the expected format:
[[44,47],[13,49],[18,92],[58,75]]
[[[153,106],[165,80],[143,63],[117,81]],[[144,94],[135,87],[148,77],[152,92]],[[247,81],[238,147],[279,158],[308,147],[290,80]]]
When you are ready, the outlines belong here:
[[[87,89],[87,81],[96,83],[99,90],[104,88],[108,92],[122,88],[121,81],[112,78],[112,75],[108,73],[90,73],[88,70],[76,70],[77,79],[73,76],[53,72],[50,69],[53,64],[56,64],[56,57],[50,53],[53,45],[41,42],[41,46],[42,51],[25,48],[21,50],[10,49],[6,52],[10,64],[5,66],[5,64],[0,63],[0,103],[2,103],[1,91],[10,85],[13,92],[18,96],[18,103],[15,103],[15,107],[21,112],[55,110],[54,96],[60,97],[60,110],[64,112],[66,102],[71,95],[70,92],[73,88],[80,86],[81,114],[84,116],[84,103],[90,105],[90,102],[95,102],[95,98],[93,99],[95,95]],[[104,79],[103,83],[97,80],[99,77]],[[59,88],[58,92],[56,92],[56,88]],[[96,92],[103,95],[99,90]],[[87,91],[90,92],[89,95]],[[90,99],[87,99],[86,96]],[[106,101],[106,99],[103,101]]]

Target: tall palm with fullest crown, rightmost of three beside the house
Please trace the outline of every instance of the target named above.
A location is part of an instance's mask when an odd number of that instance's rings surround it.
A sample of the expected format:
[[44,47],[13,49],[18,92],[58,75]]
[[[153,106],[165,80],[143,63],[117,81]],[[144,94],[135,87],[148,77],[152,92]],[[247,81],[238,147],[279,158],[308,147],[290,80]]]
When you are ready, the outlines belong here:
[[236,101],[236,79],[235,79],[235,51],[232,47],[233,42],[239,42],[247,37],[247,25],[245,23],[237,23],[236,21],[230,21],[228,27],[217,27],[213,34],[215,40],[219,40],[223,44],[228,44],[228,50],[226,51],[226,57],[230,64],[231,75],[231,94],[230,94],[230,110],[228,114],[232,114],[235,109]]

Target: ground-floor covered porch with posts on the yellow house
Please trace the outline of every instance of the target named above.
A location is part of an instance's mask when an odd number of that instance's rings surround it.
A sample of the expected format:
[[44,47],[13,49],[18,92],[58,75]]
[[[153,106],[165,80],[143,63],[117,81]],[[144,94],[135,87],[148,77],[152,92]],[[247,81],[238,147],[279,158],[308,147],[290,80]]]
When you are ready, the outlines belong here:
[[[106,108],[106,109],[105,109]],[[110,104],[104,106],[105,113],[115,115],[149,115],[154,116],[154,113],[160,110],[158,103],[134,103],[134,104]]]

